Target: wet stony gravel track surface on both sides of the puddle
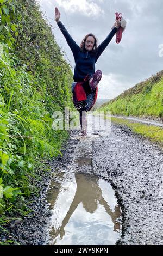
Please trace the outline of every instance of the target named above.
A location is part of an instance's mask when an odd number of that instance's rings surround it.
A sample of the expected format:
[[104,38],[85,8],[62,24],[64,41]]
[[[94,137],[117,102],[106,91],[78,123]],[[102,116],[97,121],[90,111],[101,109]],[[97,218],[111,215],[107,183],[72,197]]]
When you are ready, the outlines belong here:
[[[80,150],[81,147],[86,151]],[[10,234],[1,235],[1,241],[13,239],[22,245],[43,245],[47,239],[51,211],[46,203],[46,191],[54,179],[53,172],[72,171],[74,156],[88,154],[92,167],[79,168],[81,172],[94,173],[111,182],[121,205],[123,223],[119,245],[161,245],[163,241],[163,151],[148,139],[143,139],[124,127],[111,125],[108,137],[81,138],[72,134],[64,156],[51,162],[52,173],[46,175],[39,198],[34,198],[31,208],[34,217],[12,222]],[[70,169],[68,169],[70,168]],[[78,171],[78,170],[77,170]]]

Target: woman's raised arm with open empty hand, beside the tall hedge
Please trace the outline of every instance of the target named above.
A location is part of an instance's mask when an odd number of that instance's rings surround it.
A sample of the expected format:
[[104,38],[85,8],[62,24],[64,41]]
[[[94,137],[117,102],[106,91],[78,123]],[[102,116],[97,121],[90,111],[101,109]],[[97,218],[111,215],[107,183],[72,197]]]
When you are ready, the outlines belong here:
[[71,51],[73,53],[74,59],[76,59],[77,54],[80,50],[80,47],[76,44],[76,42],[72,39],[71,35],[68,33],[65,26],[60,21],[60,12],[57,7],[55,7],[55,21],[57,22],[58,27],[60,28],[62,34],[65,36],[67,44],[70,46]]

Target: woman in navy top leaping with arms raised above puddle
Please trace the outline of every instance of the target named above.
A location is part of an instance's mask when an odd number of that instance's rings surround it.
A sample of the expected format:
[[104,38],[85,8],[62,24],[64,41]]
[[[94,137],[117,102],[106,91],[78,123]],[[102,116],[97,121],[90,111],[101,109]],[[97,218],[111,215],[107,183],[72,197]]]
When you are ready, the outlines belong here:
[[80,113],[82,135],[86,135],[86,112],[95,104],[97,86],[102,78],[101,70],[95,72],[95,63],[120,27],[120,19],[116,20],[114,28],[98,47],[97,39],[93,34],[87,34],[79,47],[61,23],[57,7],[55,7],[55,21],[65,36],[76,63],[73,75],[74,83],[72,84],[73,102]]

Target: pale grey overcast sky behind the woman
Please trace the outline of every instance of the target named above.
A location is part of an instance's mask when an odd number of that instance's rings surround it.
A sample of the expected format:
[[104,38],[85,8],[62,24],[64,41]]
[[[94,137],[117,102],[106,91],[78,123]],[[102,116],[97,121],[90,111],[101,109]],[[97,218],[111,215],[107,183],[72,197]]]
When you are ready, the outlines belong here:
[[[41,11],[48,16],[59,46],[66,52],[74,68],[73,54],[57,28],[54,8],[61,12],[61,22],[80,45],[84,36],[93,33],[100,44],[110,33],[115,12],[127,21],[120,44],[115,36],[99,57],[96,70],[103,77],[98,98],[112,99],[163,69],[163,1],[162,0],[37,0]],[[49,19],[51,18],[51,19]]]

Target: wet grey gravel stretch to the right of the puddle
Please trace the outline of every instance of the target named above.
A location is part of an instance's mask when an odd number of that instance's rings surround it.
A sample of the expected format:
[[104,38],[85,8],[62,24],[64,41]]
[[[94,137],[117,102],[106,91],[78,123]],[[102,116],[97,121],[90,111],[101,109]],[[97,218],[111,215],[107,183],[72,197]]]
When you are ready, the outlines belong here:
[[93,142],[93,167],[115,187],[123,211],[119,244],[161,245],[163,241],[163,152],[112,125],[108,138]]

